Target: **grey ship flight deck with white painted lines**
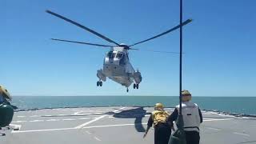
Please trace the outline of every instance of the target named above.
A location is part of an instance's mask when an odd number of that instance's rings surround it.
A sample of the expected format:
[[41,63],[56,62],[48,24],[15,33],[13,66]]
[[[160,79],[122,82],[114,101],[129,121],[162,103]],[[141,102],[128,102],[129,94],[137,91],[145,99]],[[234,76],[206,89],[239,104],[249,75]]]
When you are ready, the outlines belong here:
[[[150,107],[86,107],[21,111],[12,127],[0,130],[0,144],[150,144],[154,129],[142,138]],[[166,109],[172,112],[173,109]],[[237,118],[202,111],[202,144],[256,144],[256,118]]]

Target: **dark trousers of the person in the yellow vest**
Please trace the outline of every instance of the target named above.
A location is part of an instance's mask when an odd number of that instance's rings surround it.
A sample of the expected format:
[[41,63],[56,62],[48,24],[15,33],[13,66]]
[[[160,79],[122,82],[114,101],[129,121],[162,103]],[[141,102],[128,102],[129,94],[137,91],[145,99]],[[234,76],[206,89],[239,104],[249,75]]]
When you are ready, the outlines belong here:
[[171,134],[170,126],[166,123],[158,123],[154,126],[154,144],[168,144]]

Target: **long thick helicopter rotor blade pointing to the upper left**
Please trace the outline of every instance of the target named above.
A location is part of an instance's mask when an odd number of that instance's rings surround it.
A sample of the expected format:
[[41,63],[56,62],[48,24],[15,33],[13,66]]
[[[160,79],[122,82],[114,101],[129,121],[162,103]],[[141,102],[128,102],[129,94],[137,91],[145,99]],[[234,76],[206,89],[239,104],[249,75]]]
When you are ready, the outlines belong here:
[[46,10],[46,13],[52,14],[52,15],[58,17],[58,18],[62,18],[62,19],[65,20],[66,22],[70,22],[70,23],[74,24],[75,26],[79,26],[79,27],[81,27],[83,30],[87,30],[87,31],[89,31],[89,32],[92,33],[92,34],[97,35],[99,38],[103,38],[103,39],[105,39],[107,42],[112,42],[112,43],[116,44],[117,46],[119,46],[119,44],[118,44],[117,42],[114,42],[114,41],[111,40],[110,38],[106,38],[106,37],[105,37],[104,35],[102,35],[102,34],[98,34],[96,31],[91,30],[91,29],[89,29],[89,28],[86,27],[86,26],[82,26],[82,25],[79,24],[78,22],[74,22],[74,21],[70,20],[69,18],[65,18],[65,17],[63,17],[62,15],[56,14],[56,13],[50,11],[50,10]]

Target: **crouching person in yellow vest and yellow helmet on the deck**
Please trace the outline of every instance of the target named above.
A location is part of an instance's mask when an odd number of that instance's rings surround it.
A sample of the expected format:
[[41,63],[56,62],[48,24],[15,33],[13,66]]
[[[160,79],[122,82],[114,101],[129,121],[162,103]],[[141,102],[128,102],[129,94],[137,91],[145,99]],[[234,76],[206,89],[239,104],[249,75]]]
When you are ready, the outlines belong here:
[[146,133],[143,138],[146,137],[150,127],[154,125],[154,144],[168,144],[173,126],[172,122],[166,122],[168,116],[169,114],[164,110],[162,103],[156,103],[147,122]]

